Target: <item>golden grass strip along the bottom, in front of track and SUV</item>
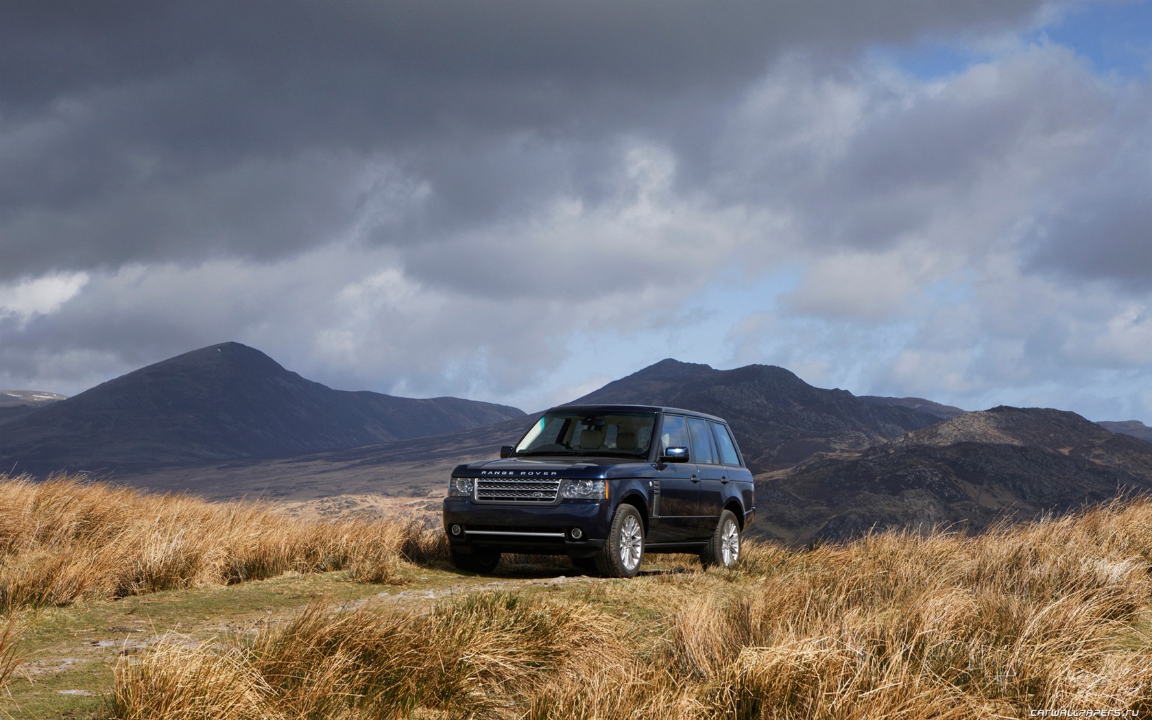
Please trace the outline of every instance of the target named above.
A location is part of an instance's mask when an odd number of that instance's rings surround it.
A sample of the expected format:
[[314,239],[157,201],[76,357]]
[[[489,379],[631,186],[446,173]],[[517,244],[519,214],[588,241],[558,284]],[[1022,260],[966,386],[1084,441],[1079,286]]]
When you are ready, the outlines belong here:
[[[116,718],[971,718],[1152,712],[1152,502],[886,532],[735,570],[313,605],[116,669]],[[608,612],[608,608],[628,608]]]

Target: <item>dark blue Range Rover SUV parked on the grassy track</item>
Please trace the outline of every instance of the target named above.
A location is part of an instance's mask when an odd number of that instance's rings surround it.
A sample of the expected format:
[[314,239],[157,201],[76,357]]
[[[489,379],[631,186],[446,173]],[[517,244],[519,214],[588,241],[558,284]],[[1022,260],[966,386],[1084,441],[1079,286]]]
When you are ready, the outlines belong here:
[[500,460],[457,465],[444,500],[456,567],[488,573],[506,552],[568,555],[632,577],[645,552],[740,559],[752,473],[728,424],[651,406],[547,410]]

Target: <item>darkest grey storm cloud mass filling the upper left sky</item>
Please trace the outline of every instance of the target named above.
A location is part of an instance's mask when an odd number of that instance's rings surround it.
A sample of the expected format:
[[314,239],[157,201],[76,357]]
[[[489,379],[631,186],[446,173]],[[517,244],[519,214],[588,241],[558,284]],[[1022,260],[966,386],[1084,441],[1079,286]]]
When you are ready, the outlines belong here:
[[688,182],[721,109],[781,52],[834,62],[1032,10],[3,3],[0,276],[297,252],[354,232],[372,188],[363,175],[381,164],[400,179],[386,182],[432,189],[366,234],[400,244],[525,212],[558,189],[594,202],[607,192],[599,143],[621,132],[676,144]]

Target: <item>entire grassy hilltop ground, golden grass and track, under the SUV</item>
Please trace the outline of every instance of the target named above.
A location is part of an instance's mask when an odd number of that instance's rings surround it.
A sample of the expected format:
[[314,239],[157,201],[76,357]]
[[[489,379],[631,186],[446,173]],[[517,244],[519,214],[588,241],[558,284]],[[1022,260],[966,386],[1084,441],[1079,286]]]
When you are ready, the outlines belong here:
[[1150,526],[1131,500],[479,577],[416,525],[0,478],[0,717],[1144,717]]

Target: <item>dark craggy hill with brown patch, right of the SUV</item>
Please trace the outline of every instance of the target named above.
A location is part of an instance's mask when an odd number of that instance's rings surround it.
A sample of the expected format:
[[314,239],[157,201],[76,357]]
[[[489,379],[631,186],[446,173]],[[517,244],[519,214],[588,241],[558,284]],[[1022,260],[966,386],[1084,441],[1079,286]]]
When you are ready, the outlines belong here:
[[793,541],[871,529],[979,530],[1152,491],[1152,444],[1061,410],[999,407],[909,432],[856,457],[813,457],[757,485],[758,513]]

